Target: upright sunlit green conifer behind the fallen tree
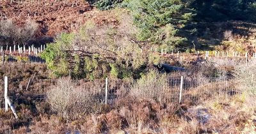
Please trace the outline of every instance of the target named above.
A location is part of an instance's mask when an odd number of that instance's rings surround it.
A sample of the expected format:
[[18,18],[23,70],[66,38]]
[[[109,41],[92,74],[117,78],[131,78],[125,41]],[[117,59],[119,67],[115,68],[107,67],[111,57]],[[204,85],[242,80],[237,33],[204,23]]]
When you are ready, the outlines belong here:
[[177,46],[186,38],[177,36],[179,29],[194,16],[180,0],[129,0],[125,4],[132,12],[134,24],[140,29],[138,40],[159,45]]

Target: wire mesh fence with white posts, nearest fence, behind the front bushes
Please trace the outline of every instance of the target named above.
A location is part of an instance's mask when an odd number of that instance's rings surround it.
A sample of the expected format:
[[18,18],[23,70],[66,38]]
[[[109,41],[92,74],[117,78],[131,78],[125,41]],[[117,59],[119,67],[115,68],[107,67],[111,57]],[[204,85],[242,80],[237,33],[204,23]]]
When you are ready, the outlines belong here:
[[[83,89],[84,92],[90,92],[93,94],[93,98],[101,103],[106,103],[107,100],[108,104],[113,104],[116,100],[124,98],[136,83],[136,81],[124,82],[120,79],[109,79],[106,94],[105,80],[94,80],[93,82],[88,80],[73,81],[76,83],[77,88]],[[8,84],[8,96],[16,103],[21,103],[28,99],[43,101],[46,98],[47,91],[52,86],[56,86],[58,82],[58,80],[53,79],[36,79],[29,83],[19,79],[12,79]],[[200,104],[205,100],[218,99],[220,97],[225,99],[241,93],[237,88],[236,82],[227,78],[184,78],[184,80],[181,80],[180,77],[171,77],[163,87],[161,92],[169,98],[169,103],[179,103],[181,99],[182,102],[190,101]],[[0,80],[0,107],[4,107],[4,80]]]

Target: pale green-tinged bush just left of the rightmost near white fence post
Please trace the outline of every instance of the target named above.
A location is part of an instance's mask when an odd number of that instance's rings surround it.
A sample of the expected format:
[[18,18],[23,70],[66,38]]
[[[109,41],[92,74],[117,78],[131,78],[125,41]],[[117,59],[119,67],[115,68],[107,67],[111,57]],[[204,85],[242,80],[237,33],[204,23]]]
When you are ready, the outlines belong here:
[[150,70],[131,87],[131,96],[145,100],[165,101],[168,93],[168,77],[158,71]]

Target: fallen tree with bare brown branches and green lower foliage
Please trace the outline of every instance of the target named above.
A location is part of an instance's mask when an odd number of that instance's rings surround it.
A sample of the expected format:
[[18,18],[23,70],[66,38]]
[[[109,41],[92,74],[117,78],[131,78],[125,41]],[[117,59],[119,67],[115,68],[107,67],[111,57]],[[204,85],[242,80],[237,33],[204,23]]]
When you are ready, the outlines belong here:
[[56,77],[138,77],[147,66],[158,63],[159,56],[150,53],[150,43],[137,41],[134,31],[120,28],[88,22],[77,33],[58,36],[42,57]]

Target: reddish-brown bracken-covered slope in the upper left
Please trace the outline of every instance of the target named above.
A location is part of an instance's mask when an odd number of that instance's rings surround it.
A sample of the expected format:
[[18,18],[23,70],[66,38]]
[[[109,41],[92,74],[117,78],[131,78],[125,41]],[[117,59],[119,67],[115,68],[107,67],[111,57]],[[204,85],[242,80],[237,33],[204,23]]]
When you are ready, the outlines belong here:
[[40,4],[0,1],[0,15],[1,19],[12,19],[19,26],[28,19],[35,20],[39,24],[37,37],[76,31],[87,20],[96,24],[118,24],[109,11],[98,11],[83,1],[42,1]]

